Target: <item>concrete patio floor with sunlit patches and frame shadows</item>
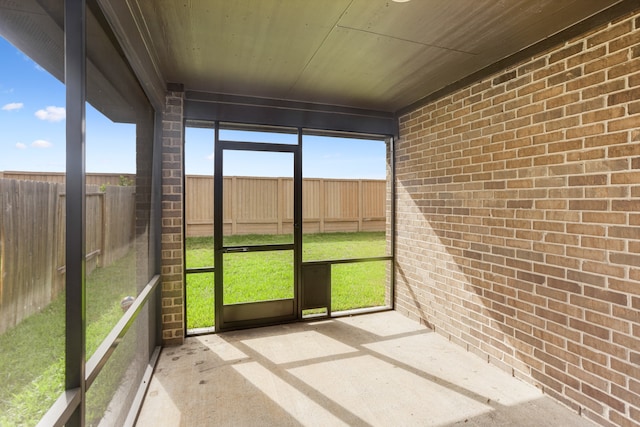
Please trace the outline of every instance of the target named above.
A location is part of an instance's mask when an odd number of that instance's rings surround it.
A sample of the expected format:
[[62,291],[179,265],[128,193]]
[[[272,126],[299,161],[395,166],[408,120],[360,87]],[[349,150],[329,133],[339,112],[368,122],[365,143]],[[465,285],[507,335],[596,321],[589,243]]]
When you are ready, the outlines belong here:
[[395,312],[188,338],[138,426],[590,426]]

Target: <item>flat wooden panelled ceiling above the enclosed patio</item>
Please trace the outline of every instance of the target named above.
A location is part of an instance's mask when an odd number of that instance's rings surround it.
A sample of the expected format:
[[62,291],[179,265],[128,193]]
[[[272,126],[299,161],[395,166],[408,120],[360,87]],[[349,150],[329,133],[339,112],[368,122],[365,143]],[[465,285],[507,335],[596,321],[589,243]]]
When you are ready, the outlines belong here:
[[127,1],[168,82],[380,111],[400,110],[619,3]]

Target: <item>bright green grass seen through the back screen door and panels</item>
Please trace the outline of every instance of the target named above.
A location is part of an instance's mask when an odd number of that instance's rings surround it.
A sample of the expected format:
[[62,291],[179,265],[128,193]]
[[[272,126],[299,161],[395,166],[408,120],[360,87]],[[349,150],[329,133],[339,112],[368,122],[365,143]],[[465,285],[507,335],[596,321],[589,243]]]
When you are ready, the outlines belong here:
[[[225,246],[291,243],[291,235],[225,237]],[[384,232],[323,233],[303,237],[303,260],[322,261],[386,255]],[[188,238],[187,268],[213,266],[213,239]],[[385,304],[385,261],[332,266],[332,311]],[[225,304],[293,298],[291,251],[231,253],[224,256]],[[187,275],[187,329],[214,324],[214,274]]]

